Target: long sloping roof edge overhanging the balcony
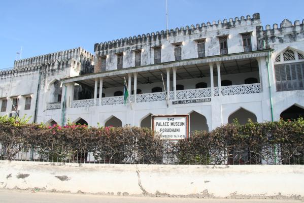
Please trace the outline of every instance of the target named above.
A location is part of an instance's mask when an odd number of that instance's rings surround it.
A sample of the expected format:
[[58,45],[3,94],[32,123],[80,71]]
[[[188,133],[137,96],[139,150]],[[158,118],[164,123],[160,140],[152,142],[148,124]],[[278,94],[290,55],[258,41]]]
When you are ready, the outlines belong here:
[[126,75],[126,74],[131,74],[131,73],[139,73],[139,72],[152,71],[152,70],[161,70],[161,69],[167,69],[167,68],[171,68],[171,67],[178,67],[178,66],[185,66],[185,65],[195,65],[195,64],[204,64],[204,63],[208,64],[208,63],[226,61],[226,60],[264,57],[264,56],[268,55],[269,51],[273,51],[273,49],[242,52],[242,53],[233,53],[233,54],[217,55],[217,56],[208,56],[208,57],[201,57],[201,58],[192,58],[192,59],[184,59],[184,60],[179,60],[179,61],[164,62],[164,63],[159,63],[159,64],[144,65],[144,66],[138,66],[138,67],[129,67],[126,69],[121,69],[121,70],[98,72],[98,73],[92,73],[92,74],[87,74],[87,75],[82,75],[82,76],[62,78],[62,79],[60,79],[60,81],[63,84],[65,84],[65,83],[77,82],[77,81],[88,80],[88,79],[103,78],[103,77],[117,76],[117,75]]

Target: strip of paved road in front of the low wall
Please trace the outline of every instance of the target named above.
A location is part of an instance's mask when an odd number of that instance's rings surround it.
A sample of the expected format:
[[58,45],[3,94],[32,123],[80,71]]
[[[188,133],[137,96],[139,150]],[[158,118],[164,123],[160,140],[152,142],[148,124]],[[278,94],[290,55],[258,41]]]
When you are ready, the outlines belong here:
[[167,198],[167,197],[131,197],[131,196],[104,196],[90,194],[64,194],[30,192],[22,190],[0,190],[1,203],[139,203],[139,202],[211,202],[211,203],[291,203],[304,202],[299,200],[272,200],[272,199],[195,199],[195,198]]

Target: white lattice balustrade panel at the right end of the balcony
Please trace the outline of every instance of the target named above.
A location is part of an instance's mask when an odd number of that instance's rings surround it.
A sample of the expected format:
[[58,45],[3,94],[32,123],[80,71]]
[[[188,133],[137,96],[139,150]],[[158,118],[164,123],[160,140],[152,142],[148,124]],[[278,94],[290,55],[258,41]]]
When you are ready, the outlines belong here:
[[222,95],[253,94],[261,92],[260,83],[222,86]]

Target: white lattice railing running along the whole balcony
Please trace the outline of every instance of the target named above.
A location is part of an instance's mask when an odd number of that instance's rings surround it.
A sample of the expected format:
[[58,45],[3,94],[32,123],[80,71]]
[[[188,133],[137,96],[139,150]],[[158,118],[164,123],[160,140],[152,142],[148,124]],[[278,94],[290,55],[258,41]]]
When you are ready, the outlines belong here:
[[[259,93],[260,84],[246,84],[246,85],[231,85],[231,86],[222,86],[221,93],[223,96],[226,95],[238,95],[238,94],[253,94]],[[214,96],[219,95],[218,87],[214,87]],[[200,88],[200,89],[186,89],[186,90],[178,90],[176,91],[176,99],[196,99],[196,98],[205,98],[211,97],[211,88]],[[169,94],[170,100],[174,100],[174,92],[171,91]],[[129,100],[133,102],[133,95],[130,95]],[[137,94],[136,102],[151,102],[151,101],[164,101],[166,100],[165,92],[156,92],[156,93],[145,93],[145,94]],[[60,109],[61,103],[48,103],[47,109]],[[120,105],[124,104],[123,96],[111,96],[104,97],[101,100],[100,105]],[[83,99],[83,100],[73,100],[71,102],[71,108],[79,108],[79,107],[92,107],[98,106],[99,99]]]

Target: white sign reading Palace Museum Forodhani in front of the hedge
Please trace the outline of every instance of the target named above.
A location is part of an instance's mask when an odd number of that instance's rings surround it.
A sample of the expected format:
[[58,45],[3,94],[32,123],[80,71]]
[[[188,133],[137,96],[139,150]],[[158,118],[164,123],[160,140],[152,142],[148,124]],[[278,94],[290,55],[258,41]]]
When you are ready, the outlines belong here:
[[188,139],[189,114],[186,115],[152,115],[152,130],[162,140]]

